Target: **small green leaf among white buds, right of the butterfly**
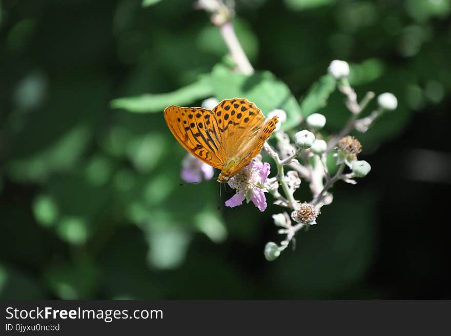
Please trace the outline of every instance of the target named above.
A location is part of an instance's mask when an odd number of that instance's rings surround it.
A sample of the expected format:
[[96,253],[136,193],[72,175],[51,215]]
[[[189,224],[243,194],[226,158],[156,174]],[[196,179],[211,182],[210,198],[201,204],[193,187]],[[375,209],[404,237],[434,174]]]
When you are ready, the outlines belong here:
[[327,105],[327,98],[335,91],[336,80],[329,74],[319,78],[301,101],[301,109],[304,117],[315,113]]

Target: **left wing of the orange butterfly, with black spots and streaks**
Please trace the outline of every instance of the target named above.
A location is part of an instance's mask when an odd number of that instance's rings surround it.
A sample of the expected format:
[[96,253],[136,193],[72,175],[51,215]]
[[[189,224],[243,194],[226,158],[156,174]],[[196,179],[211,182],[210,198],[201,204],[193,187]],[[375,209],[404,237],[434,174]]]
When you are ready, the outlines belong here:
[[222,137],[212,111],[172,105],[163,114],[180,145],[202,162],[214,168],[223,168]]

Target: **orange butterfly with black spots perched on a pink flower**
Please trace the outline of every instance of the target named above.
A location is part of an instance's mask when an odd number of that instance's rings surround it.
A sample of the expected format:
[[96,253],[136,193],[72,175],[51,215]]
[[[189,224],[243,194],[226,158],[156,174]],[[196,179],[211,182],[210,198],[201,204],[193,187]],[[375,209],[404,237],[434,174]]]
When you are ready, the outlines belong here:
[[169,106],[165,120],[175,139],[204,163],[220,169],[227,182],[257,155],[278,122],[265,123],[261,110],[245,99],[224,99],[213,111]]

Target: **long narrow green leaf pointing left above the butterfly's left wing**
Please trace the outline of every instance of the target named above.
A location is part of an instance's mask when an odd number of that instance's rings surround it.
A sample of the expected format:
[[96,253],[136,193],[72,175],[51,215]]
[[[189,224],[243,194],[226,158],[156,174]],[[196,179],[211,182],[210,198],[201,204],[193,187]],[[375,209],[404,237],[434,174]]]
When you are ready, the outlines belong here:
[[211,87],[201,77],[199,81],[173,92],[117,98],[111,102],[111,107],[138,113],[161,112],[170,105],[188,105],[211,94]]

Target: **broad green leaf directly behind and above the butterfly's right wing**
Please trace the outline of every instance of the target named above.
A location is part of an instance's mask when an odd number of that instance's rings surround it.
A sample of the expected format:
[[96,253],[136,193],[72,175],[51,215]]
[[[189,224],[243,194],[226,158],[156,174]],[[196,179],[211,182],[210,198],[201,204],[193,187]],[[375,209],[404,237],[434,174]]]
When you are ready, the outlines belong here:
[[246,98],[255,103],[263,114],[282,109],[287,114],[284,129],[299,125],[302,113],[296,98],[288,86],[269,71],[256,72],[250,76],[232,72],[223,65],[216,65],[210,75],[214,96],[219,101],[234,97]]

